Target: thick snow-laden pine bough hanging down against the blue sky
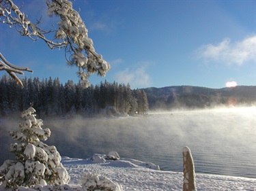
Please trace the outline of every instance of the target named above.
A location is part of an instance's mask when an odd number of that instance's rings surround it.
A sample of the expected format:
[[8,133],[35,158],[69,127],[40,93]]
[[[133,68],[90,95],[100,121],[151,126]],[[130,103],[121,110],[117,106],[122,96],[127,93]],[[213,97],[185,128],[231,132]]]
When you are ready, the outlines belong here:
[[55,14],[61,18],[55,36],[57,39],[68,41],[66,54],[71,54],[68,64],[79,67],[78,75],[83,85],[89,86],[87,79],[90,74],[106,75],[110,65],[102,58],[102,55],[96,53],[93,41],[88,37],[85,23],[79,13],[72,8],[72,3],[68,0],[48,0],[46,3],[48,15]]

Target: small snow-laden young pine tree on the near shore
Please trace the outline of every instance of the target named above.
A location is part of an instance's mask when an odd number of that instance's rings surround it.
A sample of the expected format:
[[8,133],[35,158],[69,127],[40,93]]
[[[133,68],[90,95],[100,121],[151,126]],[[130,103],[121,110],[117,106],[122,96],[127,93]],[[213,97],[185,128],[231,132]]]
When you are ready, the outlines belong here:
[[61,164],[61,156],[55,146],[40,141],[50,137],[49,128],[42,128],[42,120],[35,118],[35,109],[23,111],[20,131],[10,131],[11,137],[19,143],[10,145],[10,152],[16,160],[5,160],[0,167],[0,181],[6,188],[36,184],[68,184],[70,176]]

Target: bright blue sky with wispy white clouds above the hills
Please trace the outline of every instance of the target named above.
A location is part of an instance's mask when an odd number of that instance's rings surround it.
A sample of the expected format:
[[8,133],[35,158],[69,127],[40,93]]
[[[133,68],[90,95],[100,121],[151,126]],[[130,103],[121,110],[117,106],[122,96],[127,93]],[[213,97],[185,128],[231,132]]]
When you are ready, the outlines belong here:
[[[131,88],[223,88],[232,81],[256,85],[255,0],[72,3],[76,10],[80,7],[96,52],[111,65],[106,77],[91,75],[91,84],[107,80],[129,83]],[[31,20],[42,16],[43,29],[57,22],[46,16],[43,0],[25,1],[22,10]],[[0,52],[10,63],[33,69],[27,77],[59,77],[63,84],[79,81],[76,68],[66,65],[63,50],[50,50],[43,41],[33,42],[6,24],[0,26]]]

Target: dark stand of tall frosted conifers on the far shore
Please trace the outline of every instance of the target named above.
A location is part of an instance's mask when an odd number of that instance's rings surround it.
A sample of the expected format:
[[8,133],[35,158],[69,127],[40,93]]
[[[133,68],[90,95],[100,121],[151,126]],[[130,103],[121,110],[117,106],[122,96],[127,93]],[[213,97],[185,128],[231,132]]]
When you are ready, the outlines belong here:
[[131,90],[130,85],[100,82],[84,88],[81,82],[59,78],[38,77],[22,79],[23,88],[12,77],[0,78],[0,115],[8,116],[29,107],[36,109],[41,118],[48,116],[94,116],[145,114],[149,105],[144,90]]

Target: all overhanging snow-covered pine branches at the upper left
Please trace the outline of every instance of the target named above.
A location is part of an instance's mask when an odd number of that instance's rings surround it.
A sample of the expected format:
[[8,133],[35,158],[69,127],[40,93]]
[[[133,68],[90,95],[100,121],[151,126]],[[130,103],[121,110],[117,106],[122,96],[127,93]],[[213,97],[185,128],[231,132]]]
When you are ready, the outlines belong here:
[[[0,22],[14,26],[20,35],[27,36],[33,41],[42,39],[51,49],[65,48],[68,64],[79,68],[78,75],[81,77],[83,86],[89,86],[90,74],[106,75],[110,65],[102,55],[96,53],[93,41],[88,37],[87,28],[79,13],[72,8],[72,3],[68,0],[47,0],[46,5],[48,16],[54,14],[60,18],[57,22],[59,26],[57,30],[41,29],[40,20],[32,23],[12,0],[0,0]],[[55,32],[55,37],[52,40],[46,38],[45,35],[52,32]],[[10,72],[8,67],[2,67],[2,65],[3,63],[1,63],[1,70]],[[15,73],[10,75],[17,81],[18,77]]]

